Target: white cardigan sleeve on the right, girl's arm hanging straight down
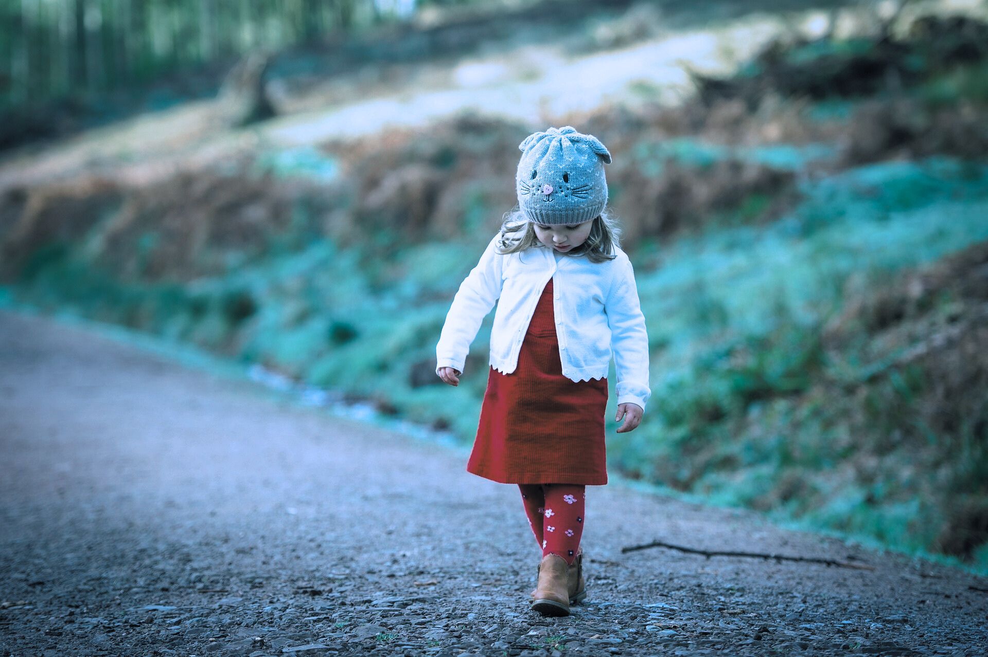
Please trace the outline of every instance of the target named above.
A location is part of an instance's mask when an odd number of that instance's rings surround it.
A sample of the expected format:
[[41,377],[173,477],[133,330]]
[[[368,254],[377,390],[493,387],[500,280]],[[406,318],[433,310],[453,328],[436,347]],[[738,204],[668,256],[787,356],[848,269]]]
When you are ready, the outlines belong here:
[[629,401],[645,408],[648,388],[648,333],[641,313],[631,261],[623,255],[615,263],[615,277],[605,304],[617,372],[617,403]]

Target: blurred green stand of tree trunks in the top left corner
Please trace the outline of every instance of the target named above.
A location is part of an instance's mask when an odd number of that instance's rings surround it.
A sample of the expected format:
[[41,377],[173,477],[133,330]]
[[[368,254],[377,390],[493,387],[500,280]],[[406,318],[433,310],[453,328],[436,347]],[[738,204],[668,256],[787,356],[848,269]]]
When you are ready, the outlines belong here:
[[[464,4],[464,3],[459,3]],[[4,104],[105,93],[255,49],[407,20],[415,0],[49,0],[0,3]]]

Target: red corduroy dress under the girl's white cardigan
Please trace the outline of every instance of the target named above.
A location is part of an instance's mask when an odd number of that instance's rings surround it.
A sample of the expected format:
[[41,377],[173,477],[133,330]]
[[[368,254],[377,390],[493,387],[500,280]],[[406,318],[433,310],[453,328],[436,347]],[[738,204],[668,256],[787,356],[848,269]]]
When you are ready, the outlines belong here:
[[552,279],[535,306],[518,367],[493,367],[467,472],[501,483],[608,482],[604,412],[608,380],[562,374]]

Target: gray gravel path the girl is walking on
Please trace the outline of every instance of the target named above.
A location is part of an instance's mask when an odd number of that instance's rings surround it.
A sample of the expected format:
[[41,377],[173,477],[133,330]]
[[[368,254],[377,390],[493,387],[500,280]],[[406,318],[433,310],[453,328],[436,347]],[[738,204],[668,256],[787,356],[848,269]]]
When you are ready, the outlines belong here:
[[[618,485],[586,604],[527,607],[516,488],[462,454],[0,313],[2,655],[988,652],[988,582]],[[822,556],[873,570],[665,549]]]

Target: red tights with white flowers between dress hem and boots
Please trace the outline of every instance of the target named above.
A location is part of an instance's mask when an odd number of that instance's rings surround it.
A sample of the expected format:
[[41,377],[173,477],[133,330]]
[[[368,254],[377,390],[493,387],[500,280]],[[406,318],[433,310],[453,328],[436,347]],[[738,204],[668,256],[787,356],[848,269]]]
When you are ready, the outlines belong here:
[[542,556],[558,554],[572,564],[583,535],[586,486],[581,483],[520,483],[522,503]]

